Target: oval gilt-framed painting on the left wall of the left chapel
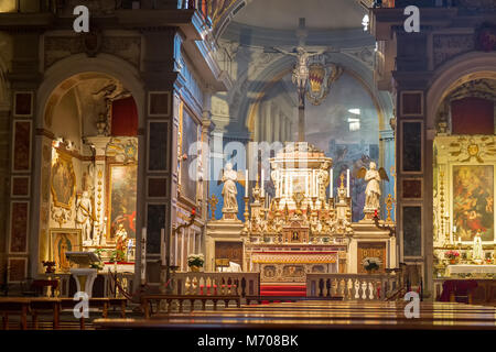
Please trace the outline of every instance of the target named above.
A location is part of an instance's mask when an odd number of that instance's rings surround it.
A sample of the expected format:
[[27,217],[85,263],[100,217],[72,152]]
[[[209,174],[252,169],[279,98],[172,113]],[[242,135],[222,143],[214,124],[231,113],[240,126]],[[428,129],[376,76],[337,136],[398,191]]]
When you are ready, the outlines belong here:
[[52,165],[51,190],[55,207],[71,209],[76,194],[76,174],[72,156],[57,151],[58,158]]

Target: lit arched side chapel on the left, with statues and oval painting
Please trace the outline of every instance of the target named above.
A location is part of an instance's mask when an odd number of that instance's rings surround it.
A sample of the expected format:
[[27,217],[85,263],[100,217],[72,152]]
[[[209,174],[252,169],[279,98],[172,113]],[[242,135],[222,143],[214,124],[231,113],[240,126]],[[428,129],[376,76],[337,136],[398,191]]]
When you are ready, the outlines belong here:
[[[40,116],[39,255],[68,273],[65,252],[96,251],[134,272],[139,107],[126,82],[85,72],[63,79]],[[39,272],[41,264],[39,265]]]

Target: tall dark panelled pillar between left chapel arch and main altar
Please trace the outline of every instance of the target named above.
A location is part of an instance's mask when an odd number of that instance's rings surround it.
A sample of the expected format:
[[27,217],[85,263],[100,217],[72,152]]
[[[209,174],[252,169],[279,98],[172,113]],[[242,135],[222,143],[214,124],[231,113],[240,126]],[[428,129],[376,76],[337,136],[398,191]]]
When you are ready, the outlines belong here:
[[[177,129],[180,98],[177,70],[181,67],[182,36],[174,28],[142,29],[144,41],[142,79],[147,95],[144,125],[140,127],[140,163],[144,163],[139,195],[137,243],[147,228],[147,282],[159,289],[166,254],[170,254],[172,220],[177,195]],[[161,237],[164,229],[164,238]],[[165,242],[162,244],[162,242]],[[137,253],[141,253],[138,249]],[[137,258],[140,263],[141,258]]]

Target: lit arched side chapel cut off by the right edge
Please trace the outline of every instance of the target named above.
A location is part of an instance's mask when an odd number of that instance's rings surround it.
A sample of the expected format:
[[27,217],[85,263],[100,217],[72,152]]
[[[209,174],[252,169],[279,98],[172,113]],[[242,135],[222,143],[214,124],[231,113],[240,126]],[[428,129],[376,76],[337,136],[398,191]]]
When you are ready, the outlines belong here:
[[[481,63],[488,65],[488,56]],[[495,255],[496,73],[481,68],[444,80],[431,102],[434,283],[465,277],[474,265],[490,271]]]

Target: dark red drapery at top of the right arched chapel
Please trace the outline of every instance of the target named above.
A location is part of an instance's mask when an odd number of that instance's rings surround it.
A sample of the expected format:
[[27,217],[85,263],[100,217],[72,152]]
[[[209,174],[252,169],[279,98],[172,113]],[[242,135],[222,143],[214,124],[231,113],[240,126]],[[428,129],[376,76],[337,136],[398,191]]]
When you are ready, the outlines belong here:
[[494,103],[475,97],[454,100],[451,119],[453,134],[493,134]]

